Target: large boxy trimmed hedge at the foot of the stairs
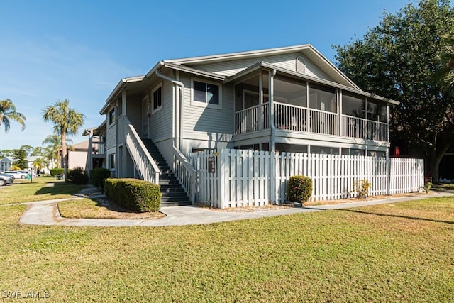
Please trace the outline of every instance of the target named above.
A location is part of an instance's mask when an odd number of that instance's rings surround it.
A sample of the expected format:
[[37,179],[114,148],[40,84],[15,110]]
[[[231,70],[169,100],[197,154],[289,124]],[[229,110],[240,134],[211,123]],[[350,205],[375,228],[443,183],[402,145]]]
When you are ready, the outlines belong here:
[[161,207],[160,186],[138,179],[104,180],[104,192],[116,204],[132,211],[159,211]]

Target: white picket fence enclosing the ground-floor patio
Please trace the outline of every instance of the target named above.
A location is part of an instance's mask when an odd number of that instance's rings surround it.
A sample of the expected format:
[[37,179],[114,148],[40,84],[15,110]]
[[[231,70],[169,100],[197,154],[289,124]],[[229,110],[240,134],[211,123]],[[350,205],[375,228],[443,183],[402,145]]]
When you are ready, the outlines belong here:
[[187,159],[198,174],[196,201],[221,209],[282,203],[293,175],[312,179],[312,201],[355,197],[353,183],[362,179],[372,184],[371,195],[416,192],[424,182],[421,159],[232,149]]

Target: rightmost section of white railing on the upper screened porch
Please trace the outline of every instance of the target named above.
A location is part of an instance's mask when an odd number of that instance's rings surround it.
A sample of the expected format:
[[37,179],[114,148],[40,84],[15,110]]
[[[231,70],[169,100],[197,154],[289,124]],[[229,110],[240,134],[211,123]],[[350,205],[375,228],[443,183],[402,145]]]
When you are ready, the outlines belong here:
[[389,140],[389,126],[387,123],[343,115],[342,129],[345,137],[384,142]]

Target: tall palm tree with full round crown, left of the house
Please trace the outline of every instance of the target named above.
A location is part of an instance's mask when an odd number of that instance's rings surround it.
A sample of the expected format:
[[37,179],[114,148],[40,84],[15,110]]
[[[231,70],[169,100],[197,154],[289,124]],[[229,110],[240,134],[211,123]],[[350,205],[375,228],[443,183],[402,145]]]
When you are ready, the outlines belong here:
[[53,106],[46,106],[43,114],[44,121],[54,124],[54,133],[61,136],[62,167],[65,169],[65,180],[68,177],[66,136],[75,135],[84,125],[84,114],[70,108],[70,101],[59,100]]

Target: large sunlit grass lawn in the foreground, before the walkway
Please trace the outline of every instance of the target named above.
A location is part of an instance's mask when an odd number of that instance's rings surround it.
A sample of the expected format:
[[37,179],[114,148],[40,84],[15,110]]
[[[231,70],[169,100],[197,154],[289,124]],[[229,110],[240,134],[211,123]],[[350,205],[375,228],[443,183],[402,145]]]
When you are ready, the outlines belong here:
[[206,226],[19,226],[0,290],[46,302],[453,302],[454,199]]

